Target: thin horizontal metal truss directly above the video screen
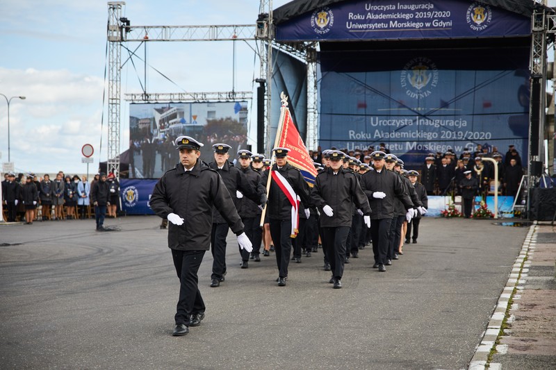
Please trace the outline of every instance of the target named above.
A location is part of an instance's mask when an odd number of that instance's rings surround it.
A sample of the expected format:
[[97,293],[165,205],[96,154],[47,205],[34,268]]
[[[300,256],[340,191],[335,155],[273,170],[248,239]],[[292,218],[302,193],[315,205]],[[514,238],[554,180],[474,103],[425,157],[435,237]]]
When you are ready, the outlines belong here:
[[167,103],[167,102],[216,102],[240,101],[253,98],[251,91],[228,92],[155,92],[152,94],[124,94],[125,101],[131,103]]

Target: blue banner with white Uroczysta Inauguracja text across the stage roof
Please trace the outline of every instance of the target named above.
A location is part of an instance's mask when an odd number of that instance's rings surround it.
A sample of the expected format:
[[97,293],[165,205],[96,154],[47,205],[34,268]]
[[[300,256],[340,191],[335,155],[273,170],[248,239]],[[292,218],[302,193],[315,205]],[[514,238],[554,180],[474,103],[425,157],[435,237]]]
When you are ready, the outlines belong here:
[[478,1],[344,1],[276,26],[277,41],[400,40],[531,34],[530,18]]

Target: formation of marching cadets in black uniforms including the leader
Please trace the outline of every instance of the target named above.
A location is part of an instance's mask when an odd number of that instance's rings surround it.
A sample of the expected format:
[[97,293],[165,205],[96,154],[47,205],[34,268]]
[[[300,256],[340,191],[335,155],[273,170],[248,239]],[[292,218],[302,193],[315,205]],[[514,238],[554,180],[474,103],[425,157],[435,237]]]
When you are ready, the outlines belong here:
[[[272,149],[268,160],[214,144],[214,160],[206,164],[199,158],[201,142],[181,136],[175,144],[180,162],[158,180],[150,200],[156,215],[168,221],[167,243],[180,282],[174,336],[186,335],[205,317],[197,271],[206,251],[213,255],[207,285],[225,287],[229,230],[238,243],[231,263],[241,269],[260,262],[261,243],[271,240],[279,287],[288,285],[289,263],[316,257],[320,246],[322,269],[330,274],[323,278],[341,289],[345,264],[359,258],[360,249],[372,244],[368,268],[384,273],[403,254],[404,242],[417,242],[427,191],[418,172],[406,171],[393,154],[373,151],[368,165],[345,151],[324,151],[309,187],[288,162],[286,148]],[[264,256],[270,255],[267,247]]]

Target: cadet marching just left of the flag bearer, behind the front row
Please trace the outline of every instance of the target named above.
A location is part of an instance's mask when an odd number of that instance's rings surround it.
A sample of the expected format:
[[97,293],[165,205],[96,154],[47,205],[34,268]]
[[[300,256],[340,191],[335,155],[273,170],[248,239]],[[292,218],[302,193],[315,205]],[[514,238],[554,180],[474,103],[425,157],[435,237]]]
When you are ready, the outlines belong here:
[[[246,149],[240,149],[238,151],[238,159],[240,164],[240,171],[243,172],[243,176],[245,180],[250,185],[252,189],[256,189],[257,194],[261,194],[260,201],[261,205],[266,203],[266,191],[264,185],[261,184],[261,174],[258,171],[255,171],[251,167],[251,158],[253,153]],[[259,161],[261,162],[261,161]],[[262,162],[261,162],[262,167]],[[262,207],[259,208],[259,205],[256,205],[254,201],[248,198],[243,198],[243,194],[241,192],[237,192],[238,196],[238,214],[241,217],[241,221],[243,221],[243,225],[245,226],[245,234],[251,240],[251,244],[253,244],[253,251],[251,255],[245,253],[240,248],[240,254],[242,255],[242,266],[243,268],[247,268],[247,260],[251,256],[255,262],[261,262],[261,257],[259,253],[261,251],[261,240],[263,237],[263,231],[259,226],[259,220],[261,219],[261,212]],[[258,216],[258,217],[257,217]]]

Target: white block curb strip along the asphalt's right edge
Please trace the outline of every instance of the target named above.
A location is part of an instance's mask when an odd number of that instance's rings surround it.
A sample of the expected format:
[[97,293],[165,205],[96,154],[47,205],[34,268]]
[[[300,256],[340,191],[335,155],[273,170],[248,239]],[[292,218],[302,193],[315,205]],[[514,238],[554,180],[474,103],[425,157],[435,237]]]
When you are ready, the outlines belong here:
[[[529,272],[530,262],[525,262],[525,258],[529,253],[532,253],[534,246],[537,243],[537,221],[534,222],[529,228],[529,233],[525,237],[523,246],[521,246],[521,251],[519,252],[516,262],[512,267],[512,272],[509,274],[506,286],[498,298],[498,303],[491,316],[489,324],[486,326],[486,330],[482,337],[480,344],[475,349],[473,358],[469,364],[468,370],[484,370],[489,358],[489,353],[493,346],[496,344],[496,339],[500,335],[500,328],[502,328],[502,321],[508,308],[509,299],[512,298],[514,294],[514,289],[517,293],[514,296],[514,300],[518,299],[519,292],[523,291],[523,285],[527,280],[527,274]],[[521,276],[520,276],[521,274]],[[503,351],[504,348],[500,348]],[[498,369],[499,364],[490,364],[490,369]]]

